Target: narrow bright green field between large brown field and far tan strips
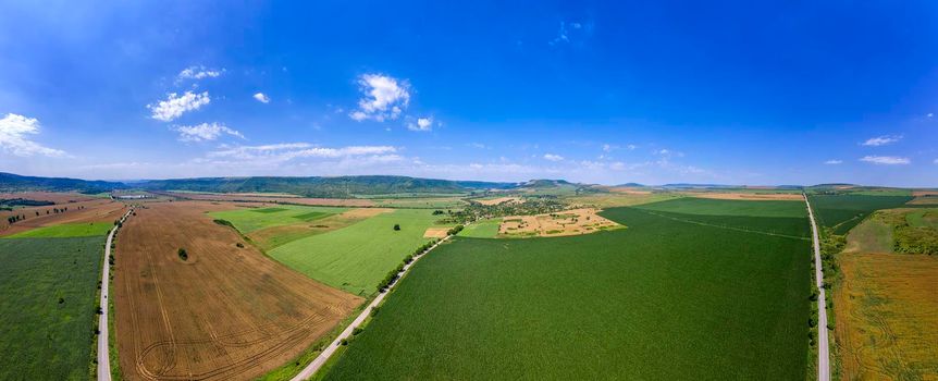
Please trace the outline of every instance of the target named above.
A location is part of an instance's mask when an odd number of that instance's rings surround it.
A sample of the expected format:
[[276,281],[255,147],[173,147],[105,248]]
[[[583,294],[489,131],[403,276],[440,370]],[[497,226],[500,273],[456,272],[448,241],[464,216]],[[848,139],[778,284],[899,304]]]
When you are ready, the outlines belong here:
[[273,228],[310,222],[332,214],[341,213],[347,208],[303,207],[279,205],[270,208],[244,208],[236,210],[213,211],[209,216],[231,222],[243,234]]

